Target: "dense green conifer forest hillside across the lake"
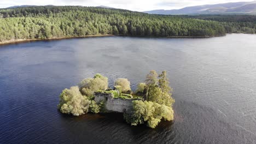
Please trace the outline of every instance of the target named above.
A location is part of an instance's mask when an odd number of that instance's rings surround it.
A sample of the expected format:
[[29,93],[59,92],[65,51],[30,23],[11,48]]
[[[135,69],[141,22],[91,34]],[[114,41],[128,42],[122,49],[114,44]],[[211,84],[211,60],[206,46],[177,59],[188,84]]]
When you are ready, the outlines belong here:
[[204,37],[224,35],[225,28],[214,21],[121,9],[74,6],[0,9],[2,42],[101,34]]

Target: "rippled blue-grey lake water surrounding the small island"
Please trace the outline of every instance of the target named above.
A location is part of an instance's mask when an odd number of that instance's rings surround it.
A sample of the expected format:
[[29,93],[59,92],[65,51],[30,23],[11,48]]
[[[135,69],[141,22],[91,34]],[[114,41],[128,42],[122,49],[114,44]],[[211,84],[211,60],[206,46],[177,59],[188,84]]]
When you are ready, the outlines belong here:
[[[62,115],[62,89],[95,73],[131,81],[167,70],[175,118],[156,129],[122,115]],[[256,35],[103,37],[0,46],[0,143],[256,143]]]

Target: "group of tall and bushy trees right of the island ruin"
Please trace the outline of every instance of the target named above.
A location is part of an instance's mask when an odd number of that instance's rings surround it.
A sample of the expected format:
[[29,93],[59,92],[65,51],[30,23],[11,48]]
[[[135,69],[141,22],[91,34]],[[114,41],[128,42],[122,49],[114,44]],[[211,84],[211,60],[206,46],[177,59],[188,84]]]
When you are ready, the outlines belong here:
[[150,71],[146,77],[146,83],[140,83],[136,91],[137,93],[144,93],[146,100],[133,101],[133,114],[125,114],[126,121],[131,125],[146,122],[148,127],[155,128],[161,119],[173,120],[172,105],[174,99],[171,97],[171,91],[172,88],[169,85],[166,71],[162,71],[159,76],[155,70]]

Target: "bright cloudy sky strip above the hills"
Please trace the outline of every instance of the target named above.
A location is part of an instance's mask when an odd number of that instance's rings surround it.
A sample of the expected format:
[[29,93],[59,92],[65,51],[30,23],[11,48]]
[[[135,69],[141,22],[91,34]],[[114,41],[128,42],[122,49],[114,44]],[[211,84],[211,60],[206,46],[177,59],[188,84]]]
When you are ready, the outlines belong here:
[[242,1],[246,2],[250,0],[0,0],[0,8],[13,5],[106,5],[113,8],[145,11],[154,9],[180,9],[193,5]]

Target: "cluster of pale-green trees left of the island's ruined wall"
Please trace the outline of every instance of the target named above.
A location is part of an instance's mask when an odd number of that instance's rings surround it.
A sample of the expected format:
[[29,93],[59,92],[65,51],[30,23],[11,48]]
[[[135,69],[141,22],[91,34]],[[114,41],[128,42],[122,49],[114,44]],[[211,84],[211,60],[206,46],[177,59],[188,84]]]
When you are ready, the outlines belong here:
[[98,113],[102,105],[94,101],[94,92],[105,90],[108,87],[108,78],[96,74],[94,78],[84,79],[79,86],[64,89],[60,94],[58,108],[62,113],[79,116],[87,112]]

